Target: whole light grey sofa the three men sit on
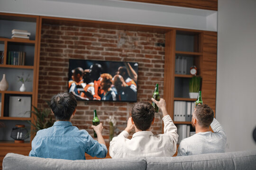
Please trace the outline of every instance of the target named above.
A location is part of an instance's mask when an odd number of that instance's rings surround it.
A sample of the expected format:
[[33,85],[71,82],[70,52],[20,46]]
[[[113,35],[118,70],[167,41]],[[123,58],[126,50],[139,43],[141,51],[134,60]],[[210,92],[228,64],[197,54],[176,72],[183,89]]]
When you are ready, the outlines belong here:
[[180,157],[62,160],[8,153],[3,170],[256,170],[256,150]]

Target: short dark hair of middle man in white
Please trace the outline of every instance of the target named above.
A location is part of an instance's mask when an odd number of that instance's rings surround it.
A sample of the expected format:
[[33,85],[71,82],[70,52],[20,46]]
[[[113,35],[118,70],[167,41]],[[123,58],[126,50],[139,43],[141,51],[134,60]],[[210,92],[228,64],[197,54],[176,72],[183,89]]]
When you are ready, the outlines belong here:
[[132,107],[132,119],[135,126],[142,131],[147,130],[155,117],[155,109],[149,102],[137,102]]

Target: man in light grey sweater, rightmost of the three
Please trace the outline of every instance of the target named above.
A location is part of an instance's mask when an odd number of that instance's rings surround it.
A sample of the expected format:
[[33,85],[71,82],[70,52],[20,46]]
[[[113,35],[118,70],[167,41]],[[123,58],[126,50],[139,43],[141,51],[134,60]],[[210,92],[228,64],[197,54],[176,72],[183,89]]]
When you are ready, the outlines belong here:
[[[196,134],[181,141],[177,156],[225,152],[226,134],[208,105],[196,107],[192,116],[192,127]],[[210,127],[214,133],[210,131]]]

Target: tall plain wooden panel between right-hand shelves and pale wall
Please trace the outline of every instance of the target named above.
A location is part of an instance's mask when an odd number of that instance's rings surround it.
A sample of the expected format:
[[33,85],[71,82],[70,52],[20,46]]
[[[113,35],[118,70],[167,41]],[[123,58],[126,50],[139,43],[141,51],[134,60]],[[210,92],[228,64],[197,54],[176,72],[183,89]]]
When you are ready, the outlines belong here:
[[203,33],[203,59],[201,64],[202,100],[215,112],[216,71],[217,71],[217,33]]

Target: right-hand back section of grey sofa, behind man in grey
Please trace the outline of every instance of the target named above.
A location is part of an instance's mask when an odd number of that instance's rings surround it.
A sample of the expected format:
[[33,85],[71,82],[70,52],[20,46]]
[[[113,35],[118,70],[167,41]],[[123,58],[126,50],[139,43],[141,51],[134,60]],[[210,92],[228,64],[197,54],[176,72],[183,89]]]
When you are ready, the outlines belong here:
[[256,170],[256,150],[177,157],[148,157],[146,170]]

